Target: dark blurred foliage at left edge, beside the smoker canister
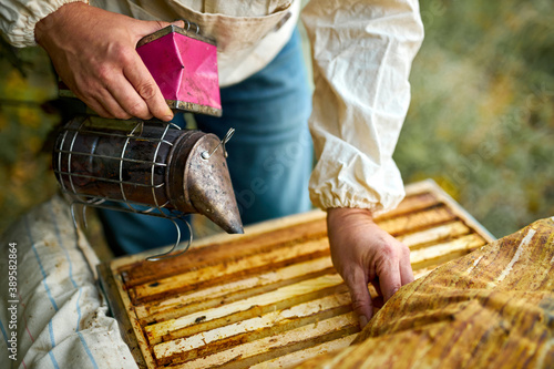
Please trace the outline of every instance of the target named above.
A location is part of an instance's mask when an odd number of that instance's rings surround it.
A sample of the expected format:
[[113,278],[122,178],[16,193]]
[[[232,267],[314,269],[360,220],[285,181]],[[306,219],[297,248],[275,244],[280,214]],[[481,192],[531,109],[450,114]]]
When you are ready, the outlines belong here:
[[57,83],[38,48],[0,44],[0,232],[55,192],[51,153],[43,150],[59,116],[47,107]]

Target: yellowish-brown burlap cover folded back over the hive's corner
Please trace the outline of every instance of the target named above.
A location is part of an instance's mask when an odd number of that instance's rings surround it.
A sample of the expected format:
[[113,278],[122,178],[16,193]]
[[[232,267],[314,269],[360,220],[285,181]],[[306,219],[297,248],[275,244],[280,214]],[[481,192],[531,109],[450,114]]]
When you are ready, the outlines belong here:
[[302,368],[554,368],[554,218],[404,286],[352,346]]

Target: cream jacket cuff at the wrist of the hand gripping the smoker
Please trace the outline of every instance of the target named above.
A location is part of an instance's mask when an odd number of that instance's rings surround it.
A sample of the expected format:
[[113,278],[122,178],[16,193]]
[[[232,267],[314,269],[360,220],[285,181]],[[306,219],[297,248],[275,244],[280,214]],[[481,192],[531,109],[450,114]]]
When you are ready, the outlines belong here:
[[75,1],[89,3],[86,0],[2,0],[0,30],[13,47],[34,47],[34,25],[62,6]]

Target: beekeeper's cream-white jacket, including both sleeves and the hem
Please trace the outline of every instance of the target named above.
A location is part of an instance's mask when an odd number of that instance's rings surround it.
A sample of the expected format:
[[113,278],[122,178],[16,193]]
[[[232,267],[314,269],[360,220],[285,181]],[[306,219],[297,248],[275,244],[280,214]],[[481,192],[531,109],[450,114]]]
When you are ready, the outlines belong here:
[[[37,20],[71,0],[2,0],[10,42],[33,44]],[[289,39],[300,0],[95,0],[140,19],[197,22],[219,45],[222,85],[264,68]],[[243,4],[243,6],[242,6]],[[284,24],[290,11],[293,17]],[[314,54],[310,129],[318,164],[310,197],[321,208],[376,213],[403,197],[392,153],[410,102],[408,76],[423,39],[417,0],[311,0],[302,11]],[[280,25],[280,27],[279,27]]]

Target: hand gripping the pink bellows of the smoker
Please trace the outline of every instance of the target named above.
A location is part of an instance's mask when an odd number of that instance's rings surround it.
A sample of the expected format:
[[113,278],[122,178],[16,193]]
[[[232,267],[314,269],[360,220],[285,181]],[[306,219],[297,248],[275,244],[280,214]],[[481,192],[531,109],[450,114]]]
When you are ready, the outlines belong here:
[[98,114],[170,121],[173,113],[135,51],[141,38],[168,24],[72,2],[37,23],[34,37],[62,81]]

